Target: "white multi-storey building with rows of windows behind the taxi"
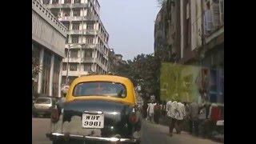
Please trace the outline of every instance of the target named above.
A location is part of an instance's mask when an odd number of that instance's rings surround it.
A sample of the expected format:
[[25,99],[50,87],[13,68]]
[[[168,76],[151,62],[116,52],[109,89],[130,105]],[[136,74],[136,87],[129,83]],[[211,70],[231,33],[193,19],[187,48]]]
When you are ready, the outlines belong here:
[[66,82],[89,72],[106,74],[108,40],[98,0],[41,0],[68,29],[62,78]]

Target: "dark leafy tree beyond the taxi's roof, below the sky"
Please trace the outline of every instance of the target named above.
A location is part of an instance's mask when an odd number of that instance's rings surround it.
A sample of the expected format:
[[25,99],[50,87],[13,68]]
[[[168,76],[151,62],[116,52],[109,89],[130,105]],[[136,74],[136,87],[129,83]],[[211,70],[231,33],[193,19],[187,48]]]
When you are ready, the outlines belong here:
[[142,96],[154,94],[159,98],[160,59],[151,54],[138,54],[116,68],[117,74],[130,78],[134,86],[140,86]]

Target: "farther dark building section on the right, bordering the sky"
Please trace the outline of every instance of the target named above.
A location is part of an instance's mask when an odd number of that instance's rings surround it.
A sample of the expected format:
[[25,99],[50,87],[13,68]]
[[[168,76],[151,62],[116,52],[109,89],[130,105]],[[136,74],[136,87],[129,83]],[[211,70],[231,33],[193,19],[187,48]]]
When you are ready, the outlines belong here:
[[161,51],[163,61],[181,58],[180,2],[168,0],[162,3],[154,26],[154,51]]

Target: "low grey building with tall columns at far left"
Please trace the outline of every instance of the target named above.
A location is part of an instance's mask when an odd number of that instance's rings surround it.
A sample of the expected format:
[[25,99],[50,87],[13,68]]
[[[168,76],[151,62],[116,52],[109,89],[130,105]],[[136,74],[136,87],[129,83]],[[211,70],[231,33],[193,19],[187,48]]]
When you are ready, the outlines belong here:
[[[61,96],[66,27],[38,0],[32,0],[33,93]],[[36,64],[35,64],[36,63]],[[34,74],[34,69],[38,73]]]

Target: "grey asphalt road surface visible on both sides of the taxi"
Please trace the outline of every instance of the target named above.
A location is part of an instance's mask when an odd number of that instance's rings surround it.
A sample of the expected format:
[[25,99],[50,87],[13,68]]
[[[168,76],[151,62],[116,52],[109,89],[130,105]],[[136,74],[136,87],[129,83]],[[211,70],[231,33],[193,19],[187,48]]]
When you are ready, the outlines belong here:
[[[49,118],[32,118],[32,143],[33,144],[50,144],[46,133],[50,130]],[[142,122],[142,142],[141,144],[165,144],[165,143],[177,143],[177,144],[218,144],[208,139],[196,138],[190,134],[182,133],[175,134],[173,137],[168,135],[168,127],[162,125],[156,125],[154,123]]]

